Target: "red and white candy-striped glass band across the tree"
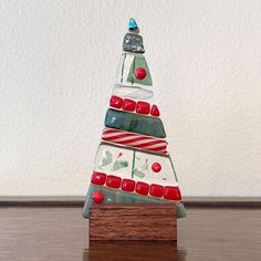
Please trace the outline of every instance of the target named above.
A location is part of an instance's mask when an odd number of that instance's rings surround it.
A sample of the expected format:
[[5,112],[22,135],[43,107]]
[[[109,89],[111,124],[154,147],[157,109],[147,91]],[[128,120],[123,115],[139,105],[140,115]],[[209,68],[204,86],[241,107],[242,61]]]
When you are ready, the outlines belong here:
[[102,139],[157,154],[167,154],[167,142],[161,138],[143,136],[115,128],[104,128]]

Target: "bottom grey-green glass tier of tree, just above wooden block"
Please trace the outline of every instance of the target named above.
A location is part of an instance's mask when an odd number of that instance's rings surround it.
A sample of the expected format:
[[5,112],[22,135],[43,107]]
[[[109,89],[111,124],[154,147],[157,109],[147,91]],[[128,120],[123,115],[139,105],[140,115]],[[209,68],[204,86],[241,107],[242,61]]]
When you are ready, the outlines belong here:
[[[101,191],[104,195],[102,203],[169,203],[169,201],[149,196],[140,196],[137,194],[123,192],[121,190],[111,189],[103,186],[90,185],[88,194],[85,198],[83,208],[83,217],[88,218],[88,208],[93,205],[92,195],[95,191]],[[177,206],[177,218],[185,218],[186,211],[182,202],[174,202]]]

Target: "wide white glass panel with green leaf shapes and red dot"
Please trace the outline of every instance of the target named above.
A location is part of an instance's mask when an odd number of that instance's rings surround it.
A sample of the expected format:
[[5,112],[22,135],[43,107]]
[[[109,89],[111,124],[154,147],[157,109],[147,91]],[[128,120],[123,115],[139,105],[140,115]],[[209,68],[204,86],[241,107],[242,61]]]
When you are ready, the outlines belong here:
[[121,146],[100,145],[94,170],[147,184],[178,185],[169,156]]

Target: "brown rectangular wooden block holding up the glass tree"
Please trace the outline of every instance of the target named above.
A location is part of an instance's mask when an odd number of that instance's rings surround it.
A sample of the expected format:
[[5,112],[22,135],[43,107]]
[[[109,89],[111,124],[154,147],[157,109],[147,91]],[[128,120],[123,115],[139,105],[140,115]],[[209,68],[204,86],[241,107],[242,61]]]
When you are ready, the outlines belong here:
[[177,240],[177,209],[169,203],[93,205],[90,241]]

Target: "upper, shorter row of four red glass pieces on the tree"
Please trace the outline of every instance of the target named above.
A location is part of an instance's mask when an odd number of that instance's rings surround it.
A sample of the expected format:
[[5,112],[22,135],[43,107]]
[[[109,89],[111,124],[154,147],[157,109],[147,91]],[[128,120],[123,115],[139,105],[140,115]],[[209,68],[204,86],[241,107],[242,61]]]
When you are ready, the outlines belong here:
[[159,116],[159,111],[156,105],[153,105],[150,108],[150,104],[146,102],[135,102],[130,98],[122,98],[113,95],[109,101],[109,105],[114,108],[122,108],[127,112],[134,112],[138,114],[150,114],[155,117]]

